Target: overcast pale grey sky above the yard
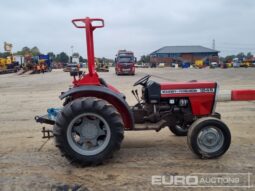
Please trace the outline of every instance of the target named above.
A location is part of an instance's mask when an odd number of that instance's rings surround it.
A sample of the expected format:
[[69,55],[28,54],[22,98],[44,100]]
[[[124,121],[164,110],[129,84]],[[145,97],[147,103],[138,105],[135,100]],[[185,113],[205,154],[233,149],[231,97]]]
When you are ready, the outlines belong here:
[[0,52],[37,46],[41,52],[86,56],[85,35],[73,18],[99,17],[95,55],[114,58],[133,50],[139,58],[163,46],[203,45],[221,55],[255,53],[254,0],[1,0]]

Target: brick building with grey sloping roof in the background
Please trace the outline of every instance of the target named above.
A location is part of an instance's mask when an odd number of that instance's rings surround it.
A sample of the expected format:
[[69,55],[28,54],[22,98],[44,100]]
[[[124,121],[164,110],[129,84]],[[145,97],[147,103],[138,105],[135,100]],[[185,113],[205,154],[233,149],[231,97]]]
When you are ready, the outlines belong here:
[[197,60],[203,60],[209,65],[211,62],[219,62],[218,53],[217,50],[203,46],[165,46],[150,54],[150,63],[171,66],[173,63],[194,64]]

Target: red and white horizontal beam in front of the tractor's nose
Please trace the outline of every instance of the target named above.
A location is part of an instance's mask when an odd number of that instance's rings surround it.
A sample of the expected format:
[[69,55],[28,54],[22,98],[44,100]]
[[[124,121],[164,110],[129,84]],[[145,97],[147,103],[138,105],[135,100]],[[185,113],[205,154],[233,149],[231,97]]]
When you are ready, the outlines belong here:
[[223,90],[217,96],[216,101],[255,101],[255,90]]

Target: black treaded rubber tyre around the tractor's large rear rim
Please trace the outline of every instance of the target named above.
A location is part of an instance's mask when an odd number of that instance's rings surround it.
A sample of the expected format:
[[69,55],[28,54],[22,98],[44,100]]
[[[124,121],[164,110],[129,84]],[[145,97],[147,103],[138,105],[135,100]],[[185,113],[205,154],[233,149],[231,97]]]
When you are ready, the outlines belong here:
[[[114,132],[114,144],[111,144],[111,148],[108,148],[107,152],[104,154],[97,154],[96,157],[81,157],[77,153],[74,155],[73,152],[70,152],[70,148],[67,148],[67,141],[65,138],[65,129],[68,127],[66,124],[72,117],[81,110],[86,110],[93,108],[95,111],[101,111],[104,115],[108,116],[111,121],[111,131]],[[109,104],[105,100],[98,99],[95,97],[84,97],[73,100],[67,104],[63,110],[60,112],[56,119],[56,123],[53,128],[53,133],[55,136],[55,145],[59,148],[61,154],[68,159],[72,164],[82,165],[82,166],[91,166],[99,165],[105,160],[112,158],[113,153],[116,150],[120,149],[121,142],[124,138],[124,124],[121,118],[121,115],[117,112],[113,105]]]

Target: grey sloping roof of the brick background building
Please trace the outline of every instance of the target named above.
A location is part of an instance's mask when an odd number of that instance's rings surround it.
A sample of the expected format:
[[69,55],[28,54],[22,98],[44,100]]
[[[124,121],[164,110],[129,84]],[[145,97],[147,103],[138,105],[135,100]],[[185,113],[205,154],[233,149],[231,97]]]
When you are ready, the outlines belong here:
[[219,51],[203,46],[165,46],[151,54],[169,54],[169,53],[218,53]]

